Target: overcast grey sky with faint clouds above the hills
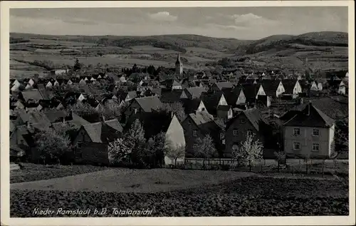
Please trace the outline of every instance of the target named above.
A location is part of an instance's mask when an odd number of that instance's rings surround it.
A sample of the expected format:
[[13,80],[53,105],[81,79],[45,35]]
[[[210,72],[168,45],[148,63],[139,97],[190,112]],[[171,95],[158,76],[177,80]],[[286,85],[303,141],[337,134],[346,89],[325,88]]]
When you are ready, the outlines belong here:
[[10,31],[53,35],[198,34],[258,39],[347,32],[347,7],[11,9]]

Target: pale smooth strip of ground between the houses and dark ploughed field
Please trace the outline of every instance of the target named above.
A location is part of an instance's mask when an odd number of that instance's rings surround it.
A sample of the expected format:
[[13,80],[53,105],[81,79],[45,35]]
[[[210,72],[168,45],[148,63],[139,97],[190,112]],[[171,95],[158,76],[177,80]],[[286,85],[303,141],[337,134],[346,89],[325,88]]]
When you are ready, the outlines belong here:
[[11,189],[103,192],[163,192],[223,183],[255,173],[204,170],[129,170],[112,168],[50,180],[14,183]]

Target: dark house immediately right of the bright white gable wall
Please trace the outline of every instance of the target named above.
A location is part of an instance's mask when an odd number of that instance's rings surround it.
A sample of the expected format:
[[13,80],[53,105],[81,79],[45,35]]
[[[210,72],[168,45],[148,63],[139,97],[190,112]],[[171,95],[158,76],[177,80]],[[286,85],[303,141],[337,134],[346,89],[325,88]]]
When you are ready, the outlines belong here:
[[224,137],[224,129],[216,123],[209,113],[206,113],[206,111],[190,113],[183,120],[182,127],[184,128],[184,137],[187,144],[187,158],[196,156],[194,154],[194,143],[197,138],[202,139],[205,135],[210,135],[214,140],[215,148],[218,150],[219,157],[221,157],[221,150],[224,149],[222,139]]

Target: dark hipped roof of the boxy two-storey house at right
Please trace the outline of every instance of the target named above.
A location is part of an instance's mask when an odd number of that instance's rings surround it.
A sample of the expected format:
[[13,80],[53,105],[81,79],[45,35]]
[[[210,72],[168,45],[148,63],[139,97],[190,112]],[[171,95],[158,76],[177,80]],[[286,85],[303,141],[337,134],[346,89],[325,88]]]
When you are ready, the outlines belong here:
[[334,122],[335,121],[328,115],[325,115],[325,113],[318,108],[315,108],[312,103],[308,103],[303,111],[298,111],[298,113],[284,123],[284,125],[330,128]]

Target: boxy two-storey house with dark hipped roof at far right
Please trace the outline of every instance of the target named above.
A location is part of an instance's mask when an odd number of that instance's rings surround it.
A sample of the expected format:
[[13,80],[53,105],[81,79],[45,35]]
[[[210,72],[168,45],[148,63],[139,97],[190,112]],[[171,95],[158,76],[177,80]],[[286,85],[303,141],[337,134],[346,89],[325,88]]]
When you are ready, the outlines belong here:
[[335,145],[335,120],[313,103],[283,123],[283,147],[288,157],[330,158]]

